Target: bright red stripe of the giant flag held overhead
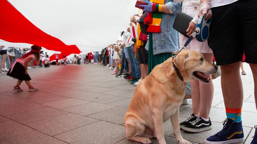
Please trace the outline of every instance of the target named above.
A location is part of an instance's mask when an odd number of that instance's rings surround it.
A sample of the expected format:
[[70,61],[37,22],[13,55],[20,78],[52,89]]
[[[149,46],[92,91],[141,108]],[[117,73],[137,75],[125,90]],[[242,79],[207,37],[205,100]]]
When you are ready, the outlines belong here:
[[[61,40],[37,28],[7,0],[1,0],[0,6],[0,39],[8,42],[29,43],[42,46],[48,50],[61,51],[60,59],[62,58],[62,54],[70,55],[80,53],[77,46],[67,46]],[[11,20],[15,22],[10,22]],[[55,55],[52,55],[50,59],[55,59],[54,57]]]

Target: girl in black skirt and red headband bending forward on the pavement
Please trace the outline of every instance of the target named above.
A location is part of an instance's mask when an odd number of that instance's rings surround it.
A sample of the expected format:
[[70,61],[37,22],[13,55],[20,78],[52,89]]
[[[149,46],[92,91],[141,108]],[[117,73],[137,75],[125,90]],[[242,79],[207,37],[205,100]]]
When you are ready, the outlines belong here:
[[33,87],[30,83],[30,76],[28,75],[27,67],[28,62],[30,62],[34,56],[36,57],[36,62],[38,63],[40,60],[40,50],[41,46],[33,45],[31,46],[31,51],[27,54],[24,54],[22,57],[18,58],[8,71],[7,75],[10,77],[13,77],[15,79],[18,79],[16,86],[12,89],[15,91],[23,91],[20,88],[20,84],[22,81],[25,81],[28,86],[28,91],[37,91],[35,87]]

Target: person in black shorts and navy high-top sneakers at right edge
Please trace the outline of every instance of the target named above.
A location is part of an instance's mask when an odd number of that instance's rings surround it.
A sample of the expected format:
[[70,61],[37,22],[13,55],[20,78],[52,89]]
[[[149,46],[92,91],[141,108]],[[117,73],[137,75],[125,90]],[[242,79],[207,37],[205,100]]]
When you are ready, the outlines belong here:
[[[221,89],[227,116],[223,129],[206,138],[204,143],[244,142],[247,134],[244,136],[242,128],[243,86],[239,70],[245,54],[245,62],[249,63],[253,74],[257,108],[257,1],[201,0],[198,16],[201,14],[206,19],[212,18],[208,45],[221,68]],[[257,129],[251,144],[256,143]]]

